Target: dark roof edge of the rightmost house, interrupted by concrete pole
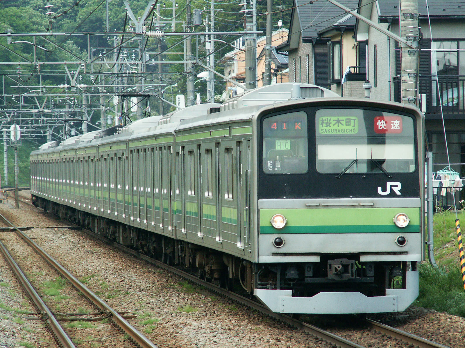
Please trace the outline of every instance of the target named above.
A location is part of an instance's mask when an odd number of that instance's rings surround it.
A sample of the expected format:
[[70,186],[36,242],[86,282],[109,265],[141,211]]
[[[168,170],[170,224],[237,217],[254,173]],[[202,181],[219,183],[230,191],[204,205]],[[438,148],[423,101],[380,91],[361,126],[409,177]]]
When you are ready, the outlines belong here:
[[[380,17],[399,17],[399,0],[379,0]],[[418,0],[420,17],[463,17],[465,16],[464,0]]]

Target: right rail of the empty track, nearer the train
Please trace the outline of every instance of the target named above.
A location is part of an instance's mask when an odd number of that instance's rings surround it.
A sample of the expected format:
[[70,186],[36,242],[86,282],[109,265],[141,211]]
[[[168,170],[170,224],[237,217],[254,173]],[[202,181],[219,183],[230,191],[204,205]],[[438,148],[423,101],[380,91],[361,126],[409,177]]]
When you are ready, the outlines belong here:
[[[1,214],[0,214],[1,216]],[[97,307],[102,311],[106,311],[111,315],[111,319],[121,328],[126,334],[131,336],[131,338],[140,345],[142,348],[157,348],[150,340],[148,340],[144,335],[137,331],[130,323],[118,314],[113,308],[108,306],[100,297],[96,296],[91,290],[87,289],[84,284],[82,284],[78,279],[76,279],[71,273],[69,273],[64,267],[62,267],[58,262],[51,258],[46,251],[44,251],[39,245],[35,244],[32,239],[27,237],[23,232],[21,232],[16,226],[9,222],[5,217],[1,216],[8,224],[13,226],[16,234],[23,238],[27,244],[29,244],[37,253],[43,257],[49,264],[55,267],[66,279],[68,279],[71,284],[73,284],[77,289],[79,289],[87,298],[89,298]],[[70,346],[71,347],[71,346]],[[74,346],[73,346],[74,347]]]

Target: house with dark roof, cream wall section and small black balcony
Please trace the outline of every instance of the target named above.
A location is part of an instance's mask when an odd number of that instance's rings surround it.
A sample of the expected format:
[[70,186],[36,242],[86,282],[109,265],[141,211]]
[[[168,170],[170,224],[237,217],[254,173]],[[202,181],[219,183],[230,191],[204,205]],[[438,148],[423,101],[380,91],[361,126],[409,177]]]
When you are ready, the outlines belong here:
[[[358,5],[357,0],[340,3]],[[365,43],[353,39],[355,18],[327,1],[294,0],[292,8],[289,36],[278,46],[289,53],[289,80],[364,96]]]

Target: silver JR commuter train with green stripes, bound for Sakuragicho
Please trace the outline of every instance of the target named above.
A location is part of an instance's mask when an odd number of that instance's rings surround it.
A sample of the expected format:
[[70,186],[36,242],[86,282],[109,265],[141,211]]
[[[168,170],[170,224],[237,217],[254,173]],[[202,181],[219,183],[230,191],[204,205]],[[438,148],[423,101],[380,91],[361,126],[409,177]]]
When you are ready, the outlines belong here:
[[274,84],[30,156],[33,202],[280,313],[405,310],[424,259],[423,116]]

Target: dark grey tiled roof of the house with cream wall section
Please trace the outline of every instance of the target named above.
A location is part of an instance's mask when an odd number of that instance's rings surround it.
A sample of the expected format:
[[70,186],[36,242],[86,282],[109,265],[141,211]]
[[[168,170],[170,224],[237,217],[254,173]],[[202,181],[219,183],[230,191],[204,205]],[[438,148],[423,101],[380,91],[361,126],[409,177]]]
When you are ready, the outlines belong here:
[[[359,1],[340,0],[339,3],[350,9],[356,9]],[[318,32],[333,26],[347,14],[344,10],[325,0],[314,1],[312,4],[308,0],[295,0],[294,5],[298,6],[296,9],[300,18],[302,37],[304,38],[318,37]],[[342,23],[339,23],[339,25],[342,25]],[[346,19],[343,25],[353,26],[355,25],[355,19],[353,17]]]

